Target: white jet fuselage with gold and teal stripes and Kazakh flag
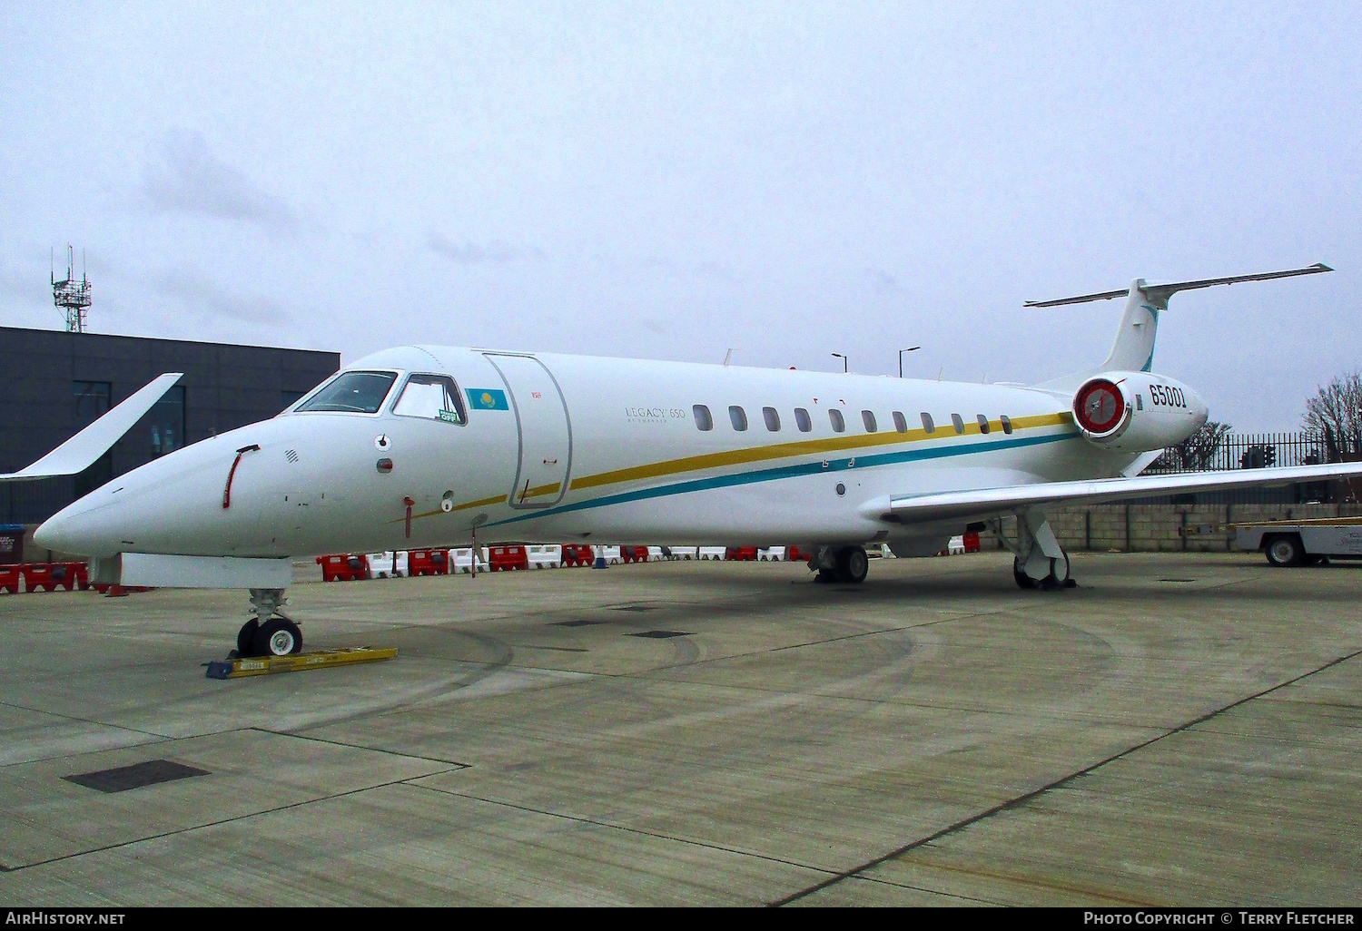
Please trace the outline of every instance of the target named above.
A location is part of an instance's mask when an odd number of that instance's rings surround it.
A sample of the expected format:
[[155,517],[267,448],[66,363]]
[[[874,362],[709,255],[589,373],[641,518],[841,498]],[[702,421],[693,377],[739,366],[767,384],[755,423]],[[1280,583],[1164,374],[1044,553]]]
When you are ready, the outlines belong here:
[[[335,400],[336,385],[361,381],[361,400]],[[1110,478],[1136,459],[1084,441],[1069,406],[1062,392],[1005,385],[399,347],[272,419],[118,476],[38,539],[95,557],[375,551],[466,544],[474,532],[934,539],[951,528],[888,525],[873,502]]]

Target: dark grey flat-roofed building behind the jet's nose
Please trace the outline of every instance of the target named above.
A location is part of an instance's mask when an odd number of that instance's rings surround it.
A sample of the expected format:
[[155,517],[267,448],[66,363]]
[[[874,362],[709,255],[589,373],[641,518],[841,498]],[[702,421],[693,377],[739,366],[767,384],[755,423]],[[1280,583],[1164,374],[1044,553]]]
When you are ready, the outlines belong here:
[[0,483],[0,524],[39,523],[157,456],[274,416],[339,368],[339,353],[0,327],[0,472],[50,452],[158,374],[184,373],[80,475]]

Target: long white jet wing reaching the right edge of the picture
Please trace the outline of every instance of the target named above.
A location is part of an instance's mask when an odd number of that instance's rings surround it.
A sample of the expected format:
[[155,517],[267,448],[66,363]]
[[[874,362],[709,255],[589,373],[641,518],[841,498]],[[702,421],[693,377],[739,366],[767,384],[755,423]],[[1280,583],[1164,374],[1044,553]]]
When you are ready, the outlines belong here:
[[[891,495],[891,520],[917,524],[963,517],[989,517],[1047,505],[1100,504],[1184,491],[1222,491],[1245,486],[1280,486],[1362,476],[1362,463],[1179,472],[1086,482],[1038,482],[1001,489]],[[884,498],[880,498],[883,502]]]

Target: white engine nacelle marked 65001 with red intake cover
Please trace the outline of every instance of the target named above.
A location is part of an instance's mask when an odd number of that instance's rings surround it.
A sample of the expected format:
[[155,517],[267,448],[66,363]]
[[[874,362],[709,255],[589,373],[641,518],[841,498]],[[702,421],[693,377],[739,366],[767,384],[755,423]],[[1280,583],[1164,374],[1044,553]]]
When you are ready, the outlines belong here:
[[1148,372],[1103,372],[1073,395],[1073,421],[1083,438],[1121,452],[1182,442],[1201,429],[1207,414],[1194,391]]

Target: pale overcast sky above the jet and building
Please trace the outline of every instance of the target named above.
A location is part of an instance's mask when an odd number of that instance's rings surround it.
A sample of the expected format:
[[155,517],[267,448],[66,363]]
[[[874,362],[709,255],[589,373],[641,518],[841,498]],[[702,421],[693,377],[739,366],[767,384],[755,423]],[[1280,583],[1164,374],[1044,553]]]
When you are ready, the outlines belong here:
[[[1239,430],[1362,365],[1362,5],[0,5],[0,325],[1032,382],[1150,282]],[[79,271],[79,268],[78,268]]]

